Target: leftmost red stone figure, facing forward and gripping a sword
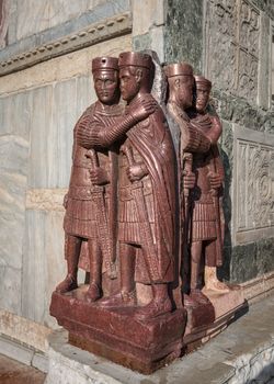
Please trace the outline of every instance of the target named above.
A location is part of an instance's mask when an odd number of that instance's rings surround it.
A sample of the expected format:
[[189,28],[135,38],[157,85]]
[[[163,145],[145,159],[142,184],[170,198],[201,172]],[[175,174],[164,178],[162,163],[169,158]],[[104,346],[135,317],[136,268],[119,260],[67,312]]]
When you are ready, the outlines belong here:
[[118,104],[118,60],[99,57],[92,60],[92,74],[98,101],[89,106],[75,127],[72,168],[69,192],[65,196],[66,259],[68,274],[56,287],[64,293],[77,289],[78,262],[83,241],[88,241],[90,286],[85,294],[90,301],[101,294],[102,272],[111,279],[115,271],[116,180],[115,148],[94,151],[83,148],[77,133],[82,126],[110,127],[121,116]]

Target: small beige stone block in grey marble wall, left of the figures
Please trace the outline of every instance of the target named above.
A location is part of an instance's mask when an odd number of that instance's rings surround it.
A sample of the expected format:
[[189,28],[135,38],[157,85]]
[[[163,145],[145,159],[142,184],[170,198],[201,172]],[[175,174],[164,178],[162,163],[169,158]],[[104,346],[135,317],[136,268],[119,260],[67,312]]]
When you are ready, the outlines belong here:
[[67,189],[32,189],[26,192],[26,210],[64,211],[62,201]]

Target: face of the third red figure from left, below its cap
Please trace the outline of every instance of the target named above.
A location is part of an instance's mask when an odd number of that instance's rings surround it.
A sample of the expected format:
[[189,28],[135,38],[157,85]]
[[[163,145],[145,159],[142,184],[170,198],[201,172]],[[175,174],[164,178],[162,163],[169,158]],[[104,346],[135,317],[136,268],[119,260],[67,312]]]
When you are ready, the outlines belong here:
[[193,103],[194,78],[192,76],[178,76],[174,79],[174,88],[178,104],[182,110],[191,108]]

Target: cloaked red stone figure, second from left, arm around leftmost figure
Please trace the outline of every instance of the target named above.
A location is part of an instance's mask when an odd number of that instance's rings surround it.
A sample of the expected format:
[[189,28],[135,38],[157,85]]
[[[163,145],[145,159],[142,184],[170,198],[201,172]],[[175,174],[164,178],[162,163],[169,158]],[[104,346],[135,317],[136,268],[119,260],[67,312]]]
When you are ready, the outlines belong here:
[[121,142],[118,241],[122,289],[101,305],[135,305],[135,283],[149,284],[152,300],[136,310],[136,316],[142,319],[172,308],[168,283],[174,280],[174,158],[164,115],[149,93],[151,57],[123,53],[118,66],[122,97],[127,102],[125,122],[130,120],[130,110],[144,108],[145,101],[155,103],[155,112],[129,131],[123,122],[110,132],[79,132],[78,137],[82,145],[89,146],[90,137],[104,148]]

